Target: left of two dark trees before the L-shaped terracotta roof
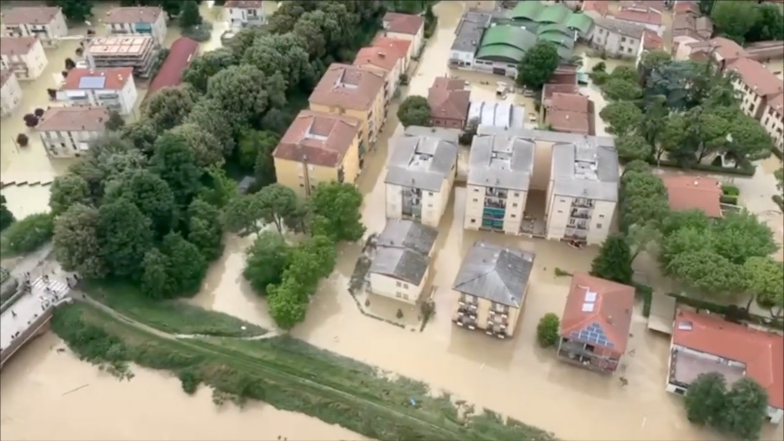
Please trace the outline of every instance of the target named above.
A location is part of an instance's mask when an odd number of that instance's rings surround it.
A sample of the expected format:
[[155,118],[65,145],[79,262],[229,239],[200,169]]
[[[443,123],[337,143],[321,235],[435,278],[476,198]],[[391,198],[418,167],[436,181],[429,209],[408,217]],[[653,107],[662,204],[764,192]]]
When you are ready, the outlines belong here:
[[715,425],[724,415],[727,381],[717,372],[699,374],[686,389],[684,406],[688,421],[698,425]]

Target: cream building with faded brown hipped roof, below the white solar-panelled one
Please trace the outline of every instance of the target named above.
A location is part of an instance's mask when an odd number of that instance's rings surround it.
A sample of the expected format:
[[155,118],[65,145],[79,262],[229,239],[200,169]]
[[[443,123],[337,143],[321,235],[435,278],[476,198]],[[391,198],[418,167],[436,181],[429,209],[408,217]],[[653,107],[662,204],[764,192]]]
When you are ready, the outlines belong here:
[[50,158],[74,158],[103,134],[108,118],[106,108],[49,108],[35,129]]

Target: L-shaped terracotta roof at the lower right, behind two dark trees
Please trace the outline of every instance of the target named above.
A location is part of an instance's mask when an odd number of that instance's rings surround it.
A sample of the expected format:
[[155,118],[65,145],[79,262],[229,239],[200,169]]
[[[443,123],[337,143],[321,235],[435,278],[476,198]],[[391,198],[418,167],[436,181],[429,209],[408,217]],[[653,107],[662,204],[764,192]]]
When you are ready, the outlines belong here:
[[784,337],[684,310],[675,322],[673,344],[745,363],[746,377],[768,390],[768,403],[784,409]]

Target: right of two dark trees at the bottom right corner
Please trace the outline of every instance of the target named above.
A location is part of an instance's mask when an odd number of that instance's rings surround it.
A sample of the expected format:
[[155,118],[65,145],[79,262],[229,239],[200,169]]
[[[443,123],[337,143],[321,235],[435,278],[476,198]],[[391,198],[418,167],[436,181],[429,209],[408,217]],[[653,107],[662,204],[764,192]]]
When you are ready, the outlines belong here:
[[752,377],[740,377],[724,395],[724,413],[719,423],[740,439],[760,439],[768,415],[768,392]]

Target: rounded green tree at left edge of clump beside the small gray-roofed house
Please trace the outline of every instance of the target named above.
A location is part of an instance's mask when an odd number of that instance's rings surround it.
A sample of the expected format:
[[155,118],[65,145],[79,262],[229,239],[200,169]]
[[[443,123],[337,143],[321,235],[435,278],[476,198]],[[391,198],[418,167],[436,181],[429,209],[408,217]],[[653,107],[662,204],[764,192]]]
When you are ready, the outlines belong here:
[[245,260],[245,279],[256,293],[267,293],[267,286],[281,282],[289,261],[289,244],[274,231],[263,231],[248,250]]

